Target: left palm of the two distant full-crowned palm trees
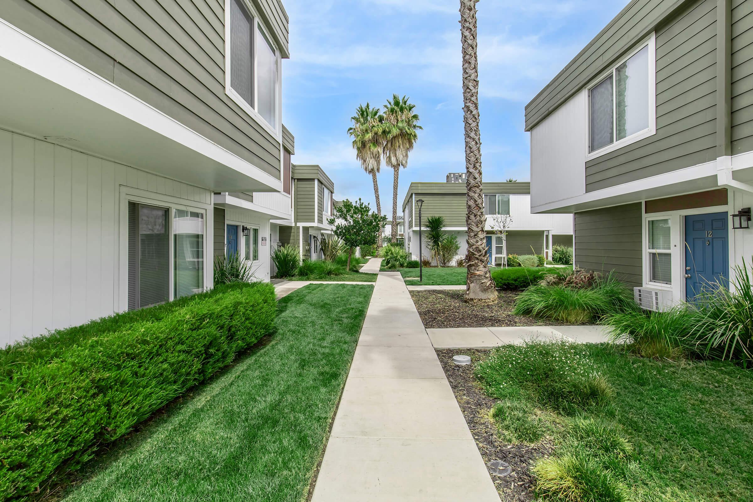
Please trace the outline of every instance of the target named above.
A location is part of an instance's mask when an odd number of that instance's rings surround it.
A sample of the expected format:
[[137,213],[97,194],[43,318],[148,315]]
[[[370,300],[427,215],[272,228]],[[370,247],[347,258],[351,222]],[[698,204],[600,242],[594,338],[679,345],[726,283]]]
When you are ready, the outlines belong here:
[[[374,186],[374,201],[377,203],[377,214],[382,214],[382,205],[379,199],[379,185],[377,174],[382,166],[382,147],[385,141],[384,116],[380,114],[378,107],[371,108],[369,103],[358,105],[355,115],[350,117],[353,125],[348,128],[348,135],[353,138],[355,158],[361,163],[361,167],[371,175]],[[382,232],[377,236],[377,249],[382,247]]]

